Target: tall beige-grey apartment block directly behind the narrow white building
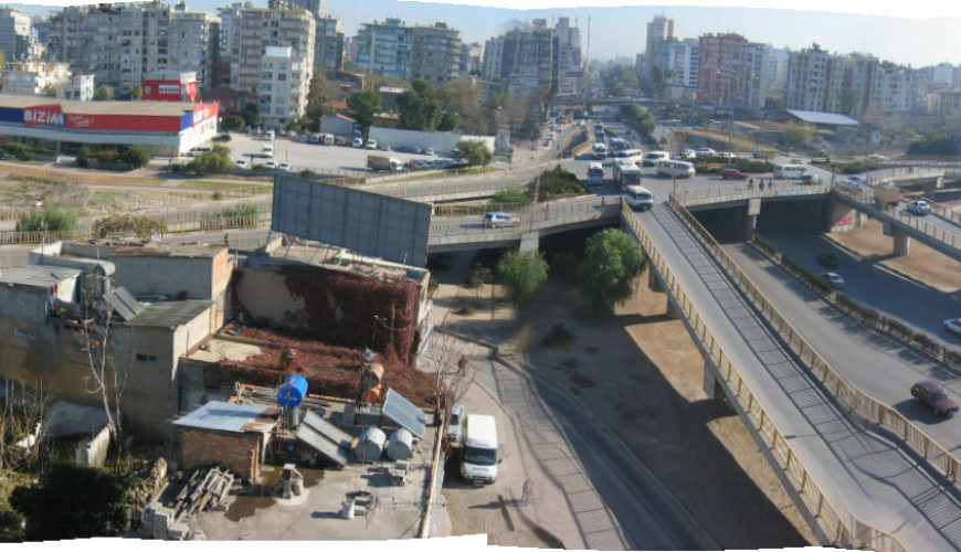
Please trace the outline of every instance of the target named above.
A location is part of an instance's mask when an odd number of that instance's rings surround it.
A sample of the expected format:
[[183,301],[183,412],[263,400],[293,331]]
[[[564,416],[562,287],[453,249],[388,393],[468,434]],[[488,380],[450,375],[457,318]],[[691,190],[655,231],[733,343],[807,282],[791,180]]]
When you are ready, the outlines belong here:
[[[268,46],[291,49],[291,63],[296,63],[299,74],[298,82],[310,83],[314,67],[314,46],[317,25],[314,15],[303,9],[268,10],[260,8],[242,8],[240,17],[234,21],[231,46],[231,87],[251,94],[261,94],[264,78],[264,55]],[[296,60],[296,62],[294,62]],[[271,86],[273,89],[273,86]],[[299,91],[299,87],[292,88]],[[271,102],[261,100],[261,107],[276,107]],[[292,105],[306,105],[306,93],[292,96],[287,102]]]

